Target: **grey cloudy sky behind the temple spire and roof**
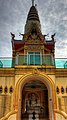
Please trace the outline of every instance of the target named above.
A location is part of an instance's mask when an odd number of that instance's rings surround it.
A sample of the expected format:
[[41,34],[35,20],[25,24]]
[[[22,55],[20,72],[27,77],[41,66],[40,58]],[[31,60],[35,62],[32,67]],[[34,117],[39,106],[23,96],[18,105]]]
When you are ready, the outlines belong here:
[[[21,39],[31,0],[0,0],[0,56],[12,56],[11,35]],[[35,0],[42,33],[56,33],[55,57],[67,58],[67,0]]]

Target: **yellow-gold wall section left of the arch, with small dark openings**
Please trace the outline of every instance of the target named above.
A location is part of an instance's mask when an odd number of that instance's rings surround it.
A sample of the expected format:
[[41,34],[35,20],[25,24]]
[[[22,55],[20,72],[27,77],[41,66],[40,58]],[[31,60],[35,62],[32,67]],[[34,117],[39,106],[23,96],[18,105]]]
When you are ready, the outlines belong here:
[[13,110],[14,74],[13,69],[0,69],[0,118]]

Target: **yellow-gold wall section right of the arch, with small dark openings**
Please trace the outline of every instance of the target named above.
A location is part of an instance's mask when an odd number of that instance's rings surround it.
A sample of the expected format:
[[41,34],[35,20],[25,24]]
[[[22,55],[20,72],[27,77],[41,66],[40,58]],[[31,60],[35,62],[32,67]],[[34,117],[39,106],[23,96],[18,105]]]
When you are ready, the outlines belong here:
[[67,113],[67,69],[56,70],[57,108]]

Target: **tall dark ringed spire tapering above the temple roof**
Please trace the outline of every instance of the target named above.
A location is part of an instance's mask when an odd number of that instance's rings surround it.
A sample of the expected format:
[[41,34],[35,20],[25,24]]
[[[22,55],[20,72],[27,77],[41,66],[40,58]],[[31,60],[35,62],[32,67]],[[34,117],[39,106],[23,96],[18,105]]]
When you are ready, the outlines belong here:
[[35,0],[32,0],[32,6],[30,7],[30,10],[27,15],[25,33],[27,33],[29,29],[32,29],[31,26],[34,26],[35,28],[37,27],[36,29],[38,29],[38,31],[41,32],[40,19],[39,19],[38,11],[37,11],[37,8],[35,7],[34,2]]

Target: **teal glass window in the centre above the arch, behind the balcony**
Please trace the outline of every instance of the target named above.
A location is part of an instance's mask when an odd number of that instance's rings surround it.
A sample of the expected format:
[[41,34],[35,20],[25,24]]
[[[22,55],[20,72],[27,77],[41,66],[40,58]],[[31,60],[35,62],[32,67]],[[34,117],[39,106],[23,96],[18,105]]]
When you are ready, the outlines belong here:
[[40,65],[41,64],[40,52],[28,52],[28,64]]

